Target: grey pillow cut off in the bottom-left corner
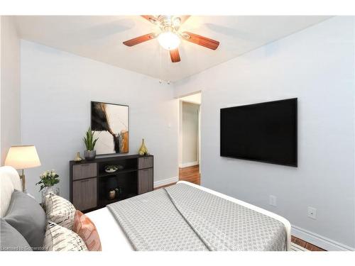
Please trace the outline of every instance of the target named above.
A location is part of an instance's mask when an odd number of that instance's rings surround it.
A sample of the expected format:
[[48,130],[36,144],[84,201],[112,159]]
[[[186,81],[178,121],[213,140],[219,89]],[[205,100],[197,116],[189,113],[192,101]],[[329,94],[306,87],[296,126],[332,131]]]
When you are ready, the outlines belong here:
[[1,238],[0,250],[1,251],[31,251],[31,246],[27,243],[15,228],[6,223],[4,219],[0,219]]

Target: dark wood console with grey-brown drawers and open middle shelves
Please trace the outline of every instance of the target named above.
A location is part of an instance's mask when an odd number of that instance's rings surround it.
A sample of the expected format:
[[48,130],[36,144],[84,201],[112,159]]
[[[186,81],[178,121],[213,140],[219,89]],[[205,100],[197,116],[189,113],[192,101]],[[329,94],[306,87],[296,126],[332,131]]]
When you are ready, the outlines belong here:
[[[153,190],[153,155],[102,157],[82,162],[70,161],[70,201],[76,209],[87,212],[131,196]],[[121,170],[105,172],[107,165]],[[114,199],[109,192],[115,191]],[[111,197],[112,197],[111,194]]]

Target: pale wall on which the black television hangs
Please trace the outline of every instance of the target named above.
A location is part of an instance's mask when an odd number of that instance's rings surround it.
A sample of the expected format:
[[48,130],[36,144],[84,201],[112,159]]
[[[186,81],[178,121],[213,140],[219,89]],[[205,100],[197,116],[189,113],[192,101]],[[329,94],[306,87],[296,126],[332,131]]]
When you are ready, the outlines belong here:
[[[202,185],[354,248],[354,70],[354,18],[336,17],[175,83],[202,90]],[[219,109],[291,97],[297,168],[219,156]]]

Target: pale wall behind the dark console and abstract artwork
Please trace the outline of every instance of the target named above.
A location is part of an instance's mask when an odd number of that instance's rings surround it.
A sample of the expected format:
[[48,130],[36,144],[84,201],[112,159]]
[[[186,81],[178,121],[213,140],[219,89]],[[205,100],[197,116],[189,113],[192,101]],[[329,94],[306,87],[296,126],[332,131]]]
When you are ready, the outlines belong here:
[[173,99],[173,87],[21,40],[22,142],[35,145],[42,162],[26,171],[31,194],[39,199],[39,174],[55,169],[62,196],[69,196],[69,160],[83,153],[92,100],[129,105],[130,153],[136,154],[145,138],[155,156],[154,181],[178,178],[178,100]]

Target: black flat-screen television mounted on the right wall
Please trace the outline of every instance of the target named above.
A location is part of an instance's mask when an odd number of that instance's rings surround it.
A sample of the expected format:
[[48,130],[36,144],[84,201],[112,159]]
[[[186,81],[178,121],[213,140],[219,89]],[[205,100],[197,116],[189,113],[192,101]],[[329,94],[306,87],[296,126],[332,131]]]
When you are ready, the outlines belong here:
[[221,109],[221,156],[297,167],[297,98]]

